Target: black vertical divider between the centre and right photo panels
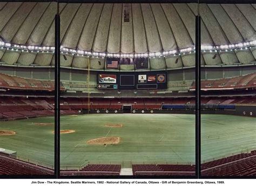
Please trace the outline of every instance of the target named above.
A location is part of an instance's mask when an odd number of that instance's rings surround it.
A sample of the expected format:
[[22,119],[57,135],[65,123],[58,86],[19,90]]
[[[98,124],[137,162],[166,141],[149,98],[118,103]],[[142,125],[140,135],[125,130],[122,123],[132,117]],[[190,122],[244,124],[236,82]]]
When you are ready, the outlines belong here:
[[196,16],[196,175],[201,175],[201,18]]

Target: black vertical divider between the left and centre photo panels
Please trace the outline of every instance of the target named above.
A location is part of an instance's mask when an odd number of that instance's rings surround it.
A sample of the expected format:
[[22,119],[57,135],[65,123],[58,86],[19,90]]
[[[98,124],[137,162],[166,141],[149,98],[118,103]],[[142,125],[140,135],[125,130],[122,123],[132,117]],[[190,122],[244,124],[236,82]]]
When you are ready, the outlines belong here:
[[[57,7],[59,4],[57,3]],[[59,154],[59,136],[60,136],[60,20],[59,20],[59,9],[57,8],[57,14],[55,15],[55,162],[54,162],[54,171],[56,178],[59,177],[59,168],[60,168],[60,154]]]

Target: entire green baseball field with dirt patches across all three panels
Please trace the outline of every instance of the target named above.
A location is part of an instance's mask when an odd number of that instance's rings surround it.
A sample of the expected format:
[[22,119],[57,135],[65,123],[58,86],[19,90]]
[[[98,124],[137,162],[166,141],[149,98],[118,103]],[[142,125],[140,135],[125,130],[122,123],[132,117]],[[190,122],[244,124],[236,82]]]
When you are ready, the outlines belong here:
[[[0,148],[53,164],[53,116],[0,122]],[[256,146],[255,118],[201,116],[201,159]],[[62,116],[60,164],[85,162],[194,162],[191,114],[89,114]],[[6,132],[8,133],[8,132]]]

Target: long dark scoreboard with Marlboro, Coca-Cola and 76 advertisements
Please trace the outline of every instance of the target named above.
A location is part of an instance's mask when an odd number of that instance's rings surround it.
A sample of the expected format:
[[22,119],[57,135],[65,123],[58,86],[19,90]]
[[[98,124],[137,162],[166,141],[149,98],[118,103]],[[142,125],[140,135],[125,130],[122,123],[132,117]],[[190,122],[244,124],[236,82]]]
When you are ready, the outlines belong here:
[[98,72],[99,89],[165,89],[166,71]]

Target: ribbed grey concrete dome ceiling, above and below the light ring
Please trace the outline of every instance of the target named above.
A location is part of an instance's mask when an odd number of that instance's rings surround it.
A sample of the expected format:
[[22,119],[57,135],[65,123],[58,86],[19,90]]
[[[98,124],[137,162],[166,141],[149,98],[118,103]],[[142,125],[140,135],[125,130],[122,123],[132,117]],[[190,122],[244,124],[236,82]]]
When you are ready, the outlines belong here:
[[[60,3],[63,47],[92,52],[145,53],[180,50],[195,42],[197,4]],[[54,46],[56,3],[0,3],[0,41]],[[229,45],[256,40],[256,4],[200,4],[201,44]],[[256,49],[203,52],[205,65],[248,64]],[[52,53],[0,49],[6,64],[52,65]],[[62,66],[87,67],[88,57],[67,54]],[[91,63],[94,59],[91,60]],[[100,59],[104,60],[104,59]],[[194,66],[194,54],[151,59],[152,69]],[[98,61],[98,60],[97,60]],[[155,62],[154,62],[155,61]],[[155,63],[155,64],[154,64]],[[103,65],[91,66],[103,69]]]

